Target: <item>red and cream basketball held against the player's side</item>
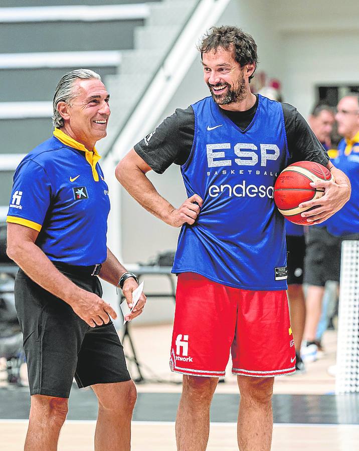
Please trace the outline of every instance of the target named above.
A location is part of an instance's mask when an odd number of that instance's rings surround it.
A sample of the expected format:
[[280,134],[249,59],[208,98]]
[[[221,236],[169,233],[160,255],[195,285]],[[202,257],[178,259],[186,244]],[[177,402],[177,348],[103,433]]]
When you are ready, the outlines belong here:
[[313,188],[309,183],[332,180],[329,169],[313,161],[298,161],[290,164],[279,174],[274,185],[274,201],[278,210],[295,224],[308,225],[300,213],[311,208],[299,208],[307,200],[319,199],[324,188]]

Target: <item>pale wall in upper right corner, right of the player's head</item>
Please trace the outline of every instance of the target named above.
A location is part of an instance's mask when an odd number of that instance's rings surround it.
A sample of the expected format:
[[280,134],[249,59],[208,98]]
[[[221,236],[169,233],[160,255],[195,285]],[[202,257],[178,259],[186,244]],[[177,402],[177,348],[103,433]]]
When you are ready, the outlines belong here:
[[283,52],[286,102],[307,117],[316,86],[359,84],[359,2],[276,0],[272,23]]

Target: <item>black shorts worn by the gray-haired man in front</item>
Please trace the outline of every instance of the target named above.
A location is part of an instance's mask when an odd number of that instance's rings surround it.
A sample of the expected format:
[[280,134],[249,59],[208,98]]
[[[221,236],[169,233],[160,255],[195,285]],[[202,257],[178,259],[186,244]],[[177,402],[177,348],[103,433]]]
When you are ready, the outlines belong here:
[[[97,277],[63,273],[77,286],[102,296]],[[15,280],[15,305],[32,395],[68,398],[74,377],[79,388],[130,379],[112,322],[88,326],[69,304],[41,288],[22,270]]]

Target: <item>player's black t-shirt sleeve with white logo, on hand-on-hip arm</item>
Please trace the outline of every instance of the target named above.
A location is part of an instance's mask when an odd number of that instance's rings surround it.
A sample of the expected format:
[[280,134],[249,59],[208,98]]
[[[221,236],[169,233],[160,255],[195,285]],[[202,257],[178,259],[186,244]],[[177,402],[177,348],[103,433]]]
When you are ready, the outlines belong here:
[[153,133],[138,142],[134,150],[151,169],[162,174],[172,163],[182,165],[187,161],[194,136],[193,108],[178,108]]

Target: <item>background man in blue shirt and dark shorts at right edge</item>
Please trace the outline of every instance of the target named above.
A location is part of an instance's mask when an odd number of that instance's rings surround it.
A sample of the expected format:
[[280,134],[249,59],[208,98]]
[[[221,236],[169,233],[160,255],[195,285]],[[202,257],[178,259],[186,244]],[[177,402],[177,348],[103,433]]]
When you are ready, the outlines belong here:
[[322,227],[310,227],[304,282],[308,284],[302,354],[305,360],[315,360],[321,343],[316,340],[321,316],[324,286],[327,281],[339,282],[341,243],[359,237],[359,104],[357,95],[343,97],[337,105],[335,120],[343,139],[337,151],[330,151],[331,161],[349,178],[353,190],[344,211],[323,222]]

